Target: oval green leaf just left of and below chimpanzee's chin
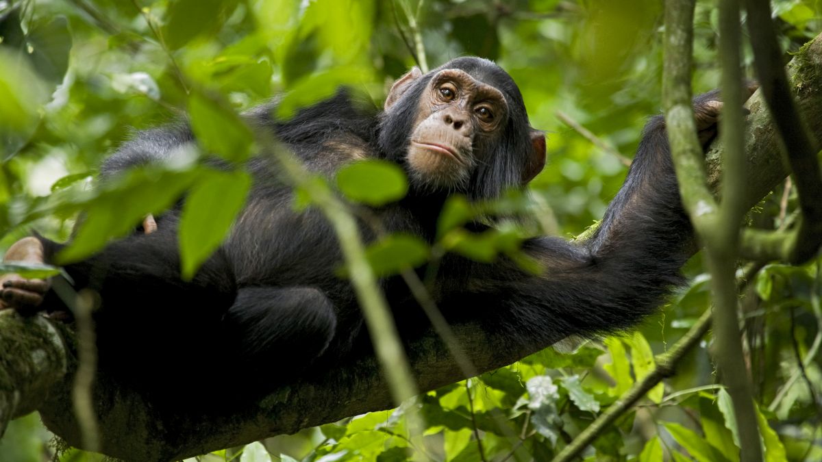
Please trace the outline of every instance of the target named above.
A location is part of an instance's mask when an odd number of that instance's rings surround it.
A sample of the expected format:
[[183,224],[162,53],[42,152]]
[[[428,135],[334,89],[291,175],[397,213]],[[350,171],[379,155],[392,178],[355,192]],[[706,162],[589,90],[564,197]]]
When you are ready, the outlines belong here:
[[340,169],[337,187],[351,201],[383,206],[402,199],[408,192],[408,181],[397,164],[371,159]]

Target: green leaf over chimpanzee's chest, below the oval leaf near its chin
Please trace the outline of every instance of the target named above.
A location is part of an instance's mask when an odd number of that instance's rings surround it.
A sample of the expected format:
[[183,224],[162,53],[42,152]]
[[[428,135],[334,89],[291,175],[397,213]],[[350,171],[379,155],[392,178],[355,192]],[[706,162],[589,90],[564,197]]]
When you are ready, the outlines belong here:
[[398,274],[428,260],[428,244],[411,234],[391,234],[367,247],[365,256],[376,275]]

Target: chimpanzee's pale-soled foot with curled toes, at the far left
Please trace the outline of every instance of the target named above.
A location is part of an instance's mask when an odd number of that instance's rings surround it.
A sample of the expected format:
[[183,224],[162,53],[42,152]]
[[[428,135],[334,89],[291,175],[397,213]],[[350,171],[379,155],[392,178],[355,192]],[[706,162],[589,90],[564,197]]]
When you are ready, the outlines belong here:
[[[22,238],[8,248],[3,258],[6,263],[44,263],[43,244],[36,238]],[[0,310],[15,309],[23,314],[33,314],[43,303],[51,283],[48,280],[26,280],[20,275],[0,276]]]

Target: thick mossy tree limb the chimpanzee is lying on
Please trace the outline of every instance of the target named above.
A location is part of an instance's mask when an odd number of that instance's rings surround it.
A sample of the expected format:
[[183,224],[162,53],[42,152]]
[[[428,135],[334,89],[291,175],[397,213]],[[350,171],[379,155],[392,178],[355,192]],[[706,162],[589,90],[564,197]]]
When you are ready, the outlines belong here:
[[[822,140],[822,38],[817,37],[797,54],[791,75],[807,126],[818,141]],[[780,159],[775,128],[757,96],[750,103],[750,111],[746,138],[750,181],[745,201],[753,206],[785,178],[787,169]],[[713,186],[720,177],[718,154],[718,149],[712,150],[708,159]],[[62,347],[50,333],[49,324],[42,318],[22,320],[15,314],[0,315],[0,423],[5,422],[3,416],[19,415],[36,407],[53,432],[69,444],[81,446],[79,426],[73,417],[72,372],[63,373],[66,360],[67,370],[74,370],[73,347]],[[504,349],[501,345],[506,344],[505,339],[483,332],[478,326],[464,324],[453,326],[453,330],[478,372],[505,366],[548,346],[534,342],[523,349]],[[67,338],[71,340],[70,335]],[[464,378],[446,345],[434,334],[413,342],[408,353],[420,390]],[[41,357],[46,359],[41,361]],[[215,396],[215,400],[221,397]],[[232,409],[231,415],[215,415],[209,403],[204,403],[197,415],[160,409],[102,372],[95,388],[102,450],[125,460],[182,459],[391,406],[388,387],[373,358],[332,369],[321,379],[283,387],[260,403]]]

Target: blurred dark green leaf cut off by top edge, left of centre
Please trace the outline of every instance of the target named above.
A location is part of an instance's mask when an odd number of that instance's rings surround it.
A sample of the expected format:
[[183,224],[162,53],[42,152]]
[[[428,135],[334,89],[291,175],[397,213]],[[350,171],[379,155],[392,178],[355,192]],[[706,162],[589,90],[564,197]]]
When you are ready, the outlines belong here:
[[170,49],[197,36],[215,35],[237,7],[238,0],[175,0],[170,2],[162,34]]

